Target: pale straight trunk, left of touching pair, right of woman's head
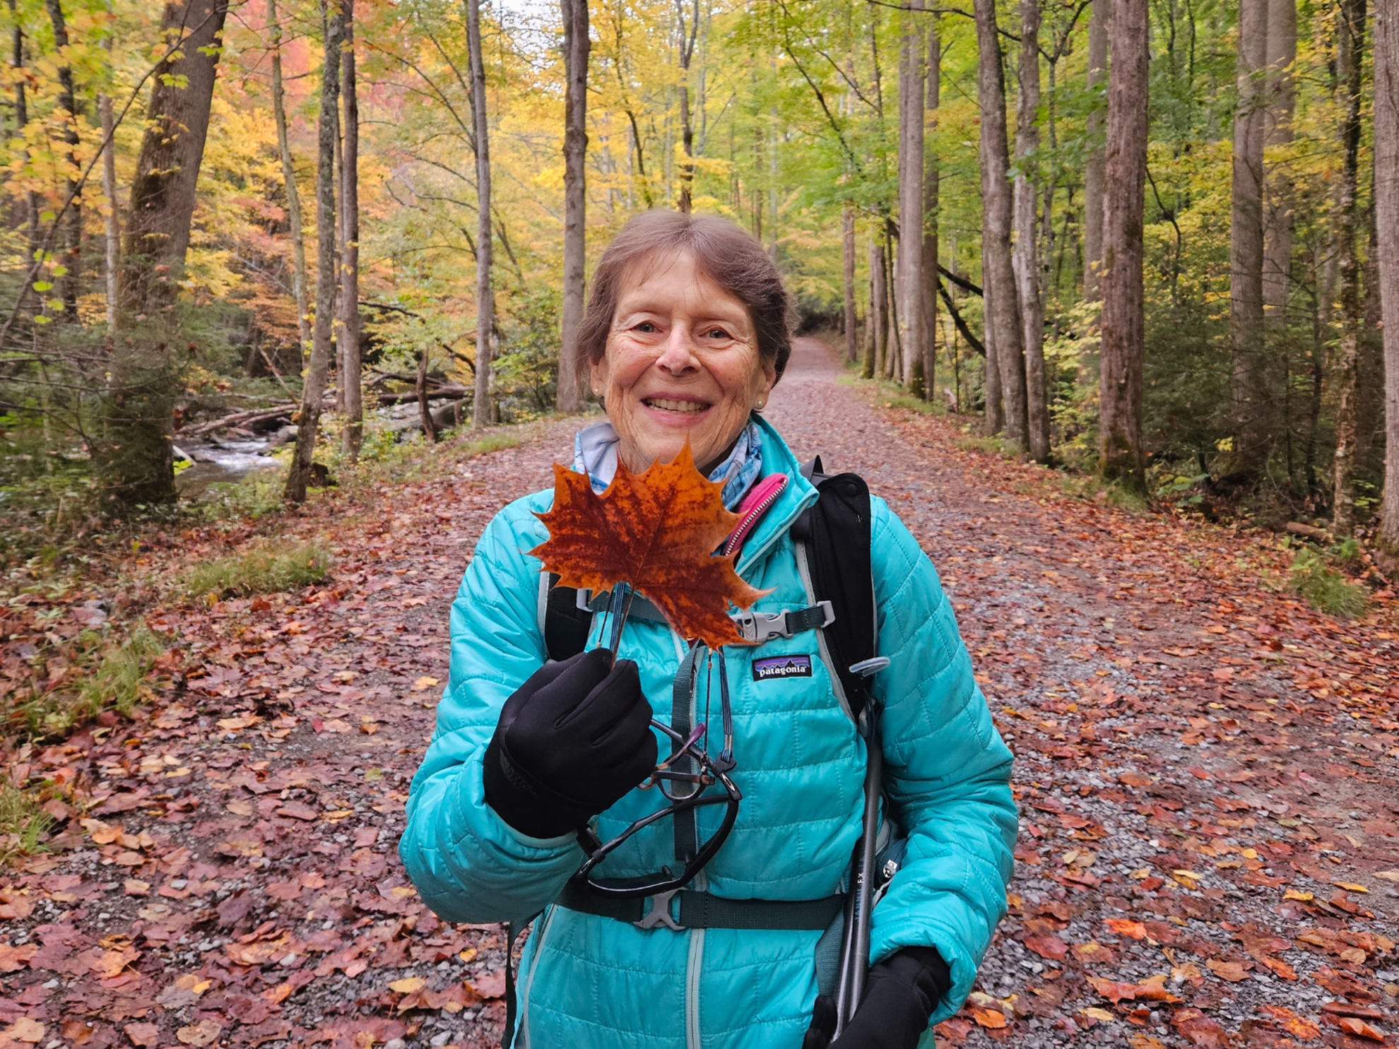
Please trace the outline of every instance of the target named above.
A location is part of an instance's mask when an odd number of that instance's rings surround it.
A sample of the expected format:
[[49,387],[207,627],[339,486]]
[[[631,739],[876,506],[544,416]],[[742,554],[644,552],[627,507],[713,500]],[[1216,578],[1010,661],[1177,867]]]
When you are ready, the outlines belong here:
[[[919,7],[914,0],[914,7]],[[898,52],[898,348],[902,382],[923,383],[923,27],[909,11]]]

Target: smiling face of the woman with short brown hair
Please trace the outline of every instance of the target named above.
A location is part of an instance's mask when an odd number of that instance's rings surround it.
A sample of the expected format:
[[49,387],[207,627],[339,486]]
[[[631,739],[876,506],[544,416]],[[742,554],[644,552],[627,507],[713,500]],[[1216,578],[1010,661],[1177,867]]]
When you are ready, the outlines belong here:
[[758,354],[747,306],[680,253],[623,280],[593,392],[621,438],[627,469],[670,462],[690,439],[702,473],[729,453],[776,372]]

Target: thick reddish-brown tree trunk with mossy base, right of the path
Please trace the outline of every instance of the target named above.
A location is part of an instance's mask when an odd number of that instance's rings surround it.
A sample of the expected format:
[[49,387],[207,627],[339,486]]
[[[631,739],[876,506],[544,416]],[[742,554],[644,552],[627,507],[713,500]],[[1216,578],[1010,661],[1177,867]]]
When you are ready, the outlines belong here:
[[1102,378],[1098,464],[1144,490],[1142,218],[1147,143],[1147,0],[1114,0],[1102,193]]

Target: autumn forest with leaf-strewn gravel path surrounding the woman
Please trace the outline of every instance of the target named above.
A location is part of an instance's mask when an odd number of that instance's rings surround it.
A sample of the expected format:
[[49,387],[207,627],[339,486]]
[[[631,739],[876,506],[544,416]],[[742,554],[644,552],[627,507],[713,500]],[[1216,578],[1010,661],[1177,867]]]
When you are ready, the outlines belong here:
[[939,1045],[1395,1045],[1396,0],[0,28],[0,1049],[498,1043],[404,803],[655,208],[776,264],[764,415],[908,524],[1014,751]]

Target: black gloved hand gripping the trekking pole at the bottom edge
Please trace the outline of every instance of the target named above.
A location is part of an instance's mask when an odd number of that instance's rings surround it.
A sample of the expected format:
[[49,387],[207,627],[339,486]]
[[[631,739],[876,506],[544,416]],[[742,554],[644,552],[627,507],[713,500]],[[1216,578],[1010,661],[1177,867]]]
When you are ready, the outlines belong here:
[[835,1000],[821,994],[802,1049],[915,1049],[953,985],[935,947],[905,947],[870,966],[860,1006],[834,1042]]

